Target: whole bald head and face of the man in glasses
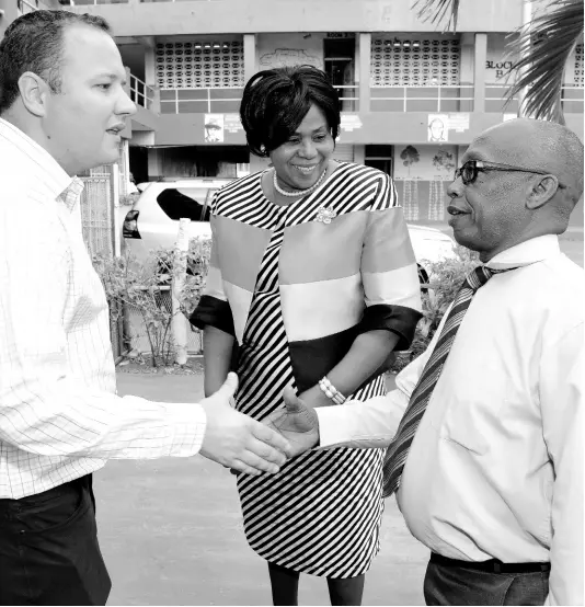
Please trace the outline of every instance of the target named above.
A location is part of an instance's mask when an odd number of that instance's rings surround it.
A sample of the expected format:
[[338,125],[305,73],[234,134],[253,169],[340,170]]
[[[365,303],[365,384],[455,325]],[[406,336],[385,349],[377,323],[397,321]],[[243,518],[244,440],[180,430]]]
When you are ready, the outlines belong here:
[[583,194],[583,144],[574,133],[555,123],[508,121],[471,141],[460,162],[472,161],[473,175],[460,174],[447,190],[459,244],[485,262],[566,230]]

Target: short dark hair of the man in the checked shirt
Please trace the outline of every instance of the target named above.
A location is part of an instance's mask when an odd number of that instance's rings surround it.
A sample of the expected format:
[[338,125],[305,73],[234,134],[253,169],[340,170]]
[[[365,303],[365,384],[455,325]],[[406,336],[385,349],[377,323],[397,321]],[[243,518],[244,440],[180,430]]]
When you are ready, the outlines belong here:
[[112,35],[101,16],[69,11],[33,11],[14,20],[0,42],[0,114],[19,96],[19,78],[41,76],[54,93],[60,92],[64,32],[68,25],[90,25]]

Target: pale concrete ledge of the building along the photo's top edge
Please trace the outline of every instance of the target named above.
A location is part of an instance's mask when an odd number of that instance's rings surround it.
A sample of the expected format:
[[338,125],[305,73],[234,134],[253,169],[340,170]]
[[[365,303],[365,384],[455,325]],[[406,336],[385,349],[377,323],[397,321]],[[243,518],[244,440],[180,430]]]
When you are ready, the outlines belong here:
[[[116,36],[263,32],[437,32],[412,0],[76,0],[69,10],[99,14]],[[511,32],[521,24],[523,0],[461,0],[457,30]]]

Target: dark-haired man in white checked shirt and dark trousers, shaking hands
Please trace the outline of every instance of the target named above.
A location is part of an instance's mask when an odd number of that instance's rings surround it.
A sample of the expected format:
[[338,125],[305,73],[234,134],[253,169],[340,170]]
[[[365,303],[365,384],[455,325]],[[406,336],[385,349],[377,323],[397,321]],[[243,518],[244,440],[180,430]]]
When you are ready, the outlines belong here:
[[[80,171],[118,158],[135,113],[100,18],[35,11],[0,43],[0,604],[103,605],[91,474],[197,453],[276,472],[287,442],[236,412],[116,396],[104,290],[81,234]],[[196,516],[196,513],[194,513]]]

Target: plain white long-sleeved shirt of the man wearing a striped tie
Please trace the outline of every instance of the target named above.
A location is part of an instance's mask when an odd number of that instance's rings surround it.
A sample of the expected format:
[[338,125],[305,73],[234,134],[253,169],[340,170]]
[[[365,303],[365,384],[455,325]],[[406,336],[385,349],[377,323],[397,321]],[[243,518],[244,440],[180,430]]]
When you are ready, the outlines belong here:
[[[583,271],[555,236],[494,256],[412,443],[397,495],[452,559],[551,562],[549,602],[583,605]],[[447,317],[447,314],[445,314]],[[383,447],[440,332],[365,403],[318,409],[322,446]]]

